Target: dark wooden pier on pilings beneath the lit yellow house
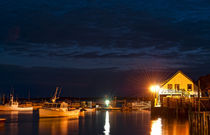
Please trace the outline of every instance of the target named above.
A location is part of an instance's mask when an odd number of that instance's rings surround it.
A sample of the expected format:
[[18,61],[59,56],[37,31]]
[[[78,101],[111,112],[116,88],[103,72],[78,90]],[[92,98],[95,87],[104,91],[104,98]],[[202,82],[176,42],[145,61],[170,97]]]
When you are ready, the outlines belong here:
[[158,107],[152,102],[152,116],[188,117],[190,134],[210,134],[210,98],[164,97],[160,101]]

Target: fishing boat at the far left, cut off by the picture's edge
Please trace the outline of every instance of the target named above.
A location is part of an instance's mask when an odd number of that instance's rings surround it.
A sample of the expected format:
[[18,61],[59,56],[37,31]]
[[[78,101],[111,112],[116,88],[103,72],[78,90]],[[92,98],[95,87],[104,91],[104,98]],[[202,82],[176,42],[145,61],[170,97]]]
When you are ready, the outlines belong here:
[[14,101],[13,95],[10,95],[9,103],[0,105],[0,111],[32,111],[33,107],[19,107],[19,103]]

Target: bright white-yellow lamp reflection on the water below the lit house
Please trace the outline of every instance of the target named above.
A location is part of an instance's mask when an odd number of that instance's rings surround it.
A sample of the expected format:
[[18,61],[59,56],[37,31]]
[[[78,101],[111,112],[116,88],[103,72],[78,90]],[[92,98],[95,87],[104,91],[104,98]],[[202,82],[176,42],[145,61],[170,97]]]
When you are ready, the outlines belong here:
[[152,121],[152,128],[150,135],[162,135],[162,121],[161,118]]

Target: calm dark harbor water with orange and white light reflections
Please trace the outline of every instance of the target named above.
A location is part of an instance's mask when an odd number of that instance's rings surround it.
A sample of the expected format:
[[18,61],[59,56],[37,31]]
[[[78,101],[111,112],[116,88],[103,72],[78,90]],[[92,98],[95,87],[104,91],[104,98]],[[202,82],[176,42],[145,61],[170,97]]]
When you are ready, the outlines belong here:
[[7,119],[0,124],[0,135],[189,135],[184,119],[155,118],[150,112],[85,113],[78,120],[39,119],[38,112],[0,112]]

